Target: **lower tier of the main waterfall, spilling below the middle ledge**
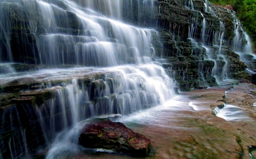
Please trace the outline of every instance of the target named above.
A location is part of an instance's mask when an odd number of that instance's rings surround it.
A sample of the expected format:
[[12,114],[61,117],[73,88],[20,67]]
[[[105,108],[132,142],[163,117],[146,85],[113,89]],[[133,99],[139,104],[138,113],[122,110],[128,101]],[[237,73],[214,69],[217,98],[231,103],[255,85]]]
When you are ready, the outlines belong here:
[[106,73],[89,85],[74,79],[71,84],[56,89],[55,98],[37,107],[47,143],[50,144],[58,132],[83,119],[134,113],[163,104],[175,94],[174,82],[157,65],[116,66],[100,68],[97,72]]

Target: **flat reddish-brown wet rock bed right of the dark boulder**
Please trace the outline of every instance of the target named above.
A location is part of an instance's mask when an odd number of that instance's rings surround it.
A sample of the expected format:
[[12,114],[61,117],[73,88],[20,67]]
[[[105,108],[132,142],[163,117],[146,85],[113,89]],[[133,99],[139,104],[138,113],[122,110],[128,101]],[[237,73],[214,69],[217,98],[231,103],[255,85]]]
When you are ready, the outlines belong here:
[[[240,83],[228,87],[181,92],[183,100],[193,102],[198,110],[169,112],[170,116],[159,117],[165,126],[142,124],[130,127],[151,140],[152,152],[146,158],[250,158],[250,154],[255,157],[254,91],[255,85]],[[213,115],[212,110],[216,106],[222,107],[224,103],[242,108],[250,114],[251,120],[225,121]],[[111,157],[107,154],[103,156]]]

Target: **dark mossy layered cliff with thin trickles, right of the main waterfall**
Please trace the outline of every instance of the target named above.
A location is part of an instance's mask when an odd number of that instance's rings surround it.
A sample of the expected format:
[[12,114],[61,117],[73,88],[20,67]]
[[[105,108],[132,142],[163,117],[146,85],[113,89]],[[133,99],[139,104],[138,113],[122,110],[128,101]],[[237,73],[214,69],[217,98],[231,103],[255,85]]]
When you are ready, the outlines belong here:
[[247,41],[235,12],[201,0],[165,0],[155,6],[163,46],[156,53],[172,66],[163,67],[173,72],[181,91],[214,86],[216,80],[250,79],[237,54]]

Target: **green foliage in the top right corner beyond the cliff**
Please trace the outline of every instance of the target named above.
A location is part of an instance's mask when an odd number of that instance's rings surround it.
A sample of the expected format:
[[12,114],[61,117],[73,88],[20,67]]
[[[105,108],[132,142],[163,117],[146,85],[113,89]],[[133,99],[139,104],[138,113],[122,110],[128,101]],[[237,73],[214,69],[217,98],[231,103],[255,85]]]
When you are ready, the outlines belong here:
[[256,0],[209,0],[215,5],[232,5],[256,48]]

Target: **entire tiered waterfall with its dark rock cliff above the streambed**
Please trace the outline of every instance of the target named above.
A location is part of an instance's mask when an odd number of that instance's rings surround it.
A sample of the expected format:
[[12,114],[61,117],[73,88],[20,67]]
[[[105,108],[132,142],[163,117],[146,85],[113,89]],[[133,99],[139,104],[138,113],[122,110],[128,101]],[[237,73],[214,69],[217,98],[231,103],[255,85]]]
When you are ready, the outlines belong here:
[[235,13],[208,1],[0,0],[0,158],[177,86],[248,79],[250,47]]

